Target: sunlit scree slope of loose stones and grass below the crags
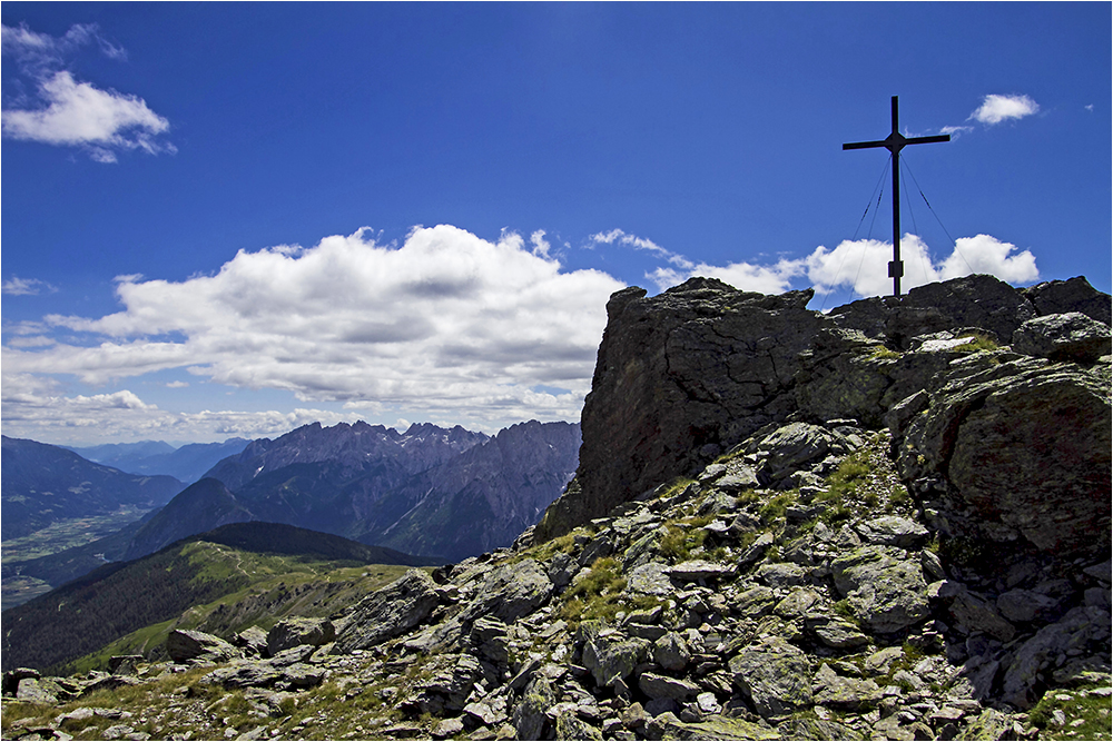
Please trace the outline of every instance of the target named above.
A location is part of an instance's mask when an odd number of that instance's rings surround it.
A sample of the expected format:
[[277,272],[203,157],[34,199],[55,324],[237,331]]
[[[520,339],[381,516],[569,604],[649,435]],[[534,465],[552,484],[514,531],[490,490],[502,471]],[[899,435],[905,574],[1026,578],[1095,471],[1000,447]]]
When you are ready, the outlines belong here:
[[696,479],[331,621],[6,674],[2,733],[1110,739],[1110,562],[987,550],[923,515],[884,432],[774,426]]

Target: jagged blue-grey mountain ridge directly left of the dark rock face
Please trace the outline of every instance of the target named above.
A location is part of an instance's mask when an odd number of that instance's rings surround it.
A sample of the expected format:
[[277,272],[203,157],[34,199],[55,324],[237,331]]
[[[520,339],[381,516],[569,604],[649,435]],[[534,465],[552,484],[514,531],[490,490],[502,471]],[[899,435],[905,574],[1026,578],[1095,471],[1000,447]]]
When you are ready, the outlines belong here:
[[132,537],[125,558],[227,523],[289,523],[450,560],[509,545],[571,478],[579,425],[306,425],[214,466]]

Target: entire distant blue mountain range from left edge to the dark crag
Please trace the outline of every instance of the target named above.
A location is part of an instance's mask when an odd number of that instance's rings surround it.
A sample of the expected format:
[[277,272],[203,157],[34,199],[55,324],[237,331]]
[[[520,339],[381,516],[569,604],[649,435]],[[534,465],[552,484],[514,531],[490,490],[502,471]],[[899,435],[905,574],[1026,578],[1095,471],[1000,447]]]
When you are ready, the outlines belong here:
[[[85,492],[97,477],[116,483],[97,489],[104,494],[101,509],[136,503],[131,518],[100,538],[29,558],[6,554],[6,605],[19,602],[8,590],[17,576],[58,586],[106,562],[136,560],[230,523],[286,523],[442,561],[506,546],[571,478],[580,433],[579,425],[535,421],[494,437],[460,426],[414,424],[398,432],[363,422],[315,423],[275,439],[240,443],[214,444],[238,451],[186,487],[173,477],[126,474],[57,446],[4,438],[6,538],[8,528],[24,535],[49,525],[43,513],[89,511],[60,507],[50,493]],[[148,443],[92,453],[118,462],[138,456],[149,464],[165,455],[159,451],[159,444]],[[160,499],[136,494],[157,485]],[[105,499],[107,493],[117,499]]]

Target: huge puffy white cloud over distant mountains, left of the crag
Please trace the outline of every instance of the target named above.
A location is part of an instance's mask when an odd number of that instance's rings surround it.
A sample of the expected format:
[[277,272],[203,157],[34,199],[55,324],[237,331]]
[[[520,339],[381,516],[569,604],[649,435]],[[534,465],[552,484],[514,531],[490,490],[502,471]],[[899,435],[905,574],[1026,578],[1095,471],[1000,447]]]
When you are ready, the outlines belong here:
[[489,241],[439,226],[394,247],[364,229],[307,249],[240,251],[216,275],[180,283],[124,276],[121,311],[48,316],[89,335],[41,349],[9,344],[4,373],[107,384],[186,368],[233,387],[345,403],[354,415],[398,407],[485,427],[575,419],[607,299],[623,284],[563,271],[534,237]]

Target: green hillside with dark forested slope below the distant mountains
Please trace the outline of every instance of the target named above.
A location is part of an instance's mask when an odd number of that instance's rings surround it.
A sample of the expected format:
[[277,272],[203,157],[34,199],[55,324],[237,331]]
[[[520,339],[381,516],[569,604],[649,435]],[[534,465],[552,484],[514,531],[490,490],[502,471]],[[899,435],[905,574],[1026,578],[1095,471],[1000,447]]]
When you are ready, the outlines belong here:
[[[383,562],[396,566],[368,566]],[[4,612],[3,669],[92,669],[112,654],[160,651],[175,626],[227,635],[328,615],[421,562],[294,526],[233,524]]]

